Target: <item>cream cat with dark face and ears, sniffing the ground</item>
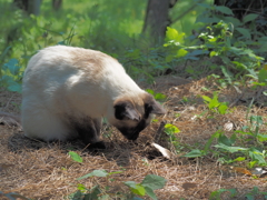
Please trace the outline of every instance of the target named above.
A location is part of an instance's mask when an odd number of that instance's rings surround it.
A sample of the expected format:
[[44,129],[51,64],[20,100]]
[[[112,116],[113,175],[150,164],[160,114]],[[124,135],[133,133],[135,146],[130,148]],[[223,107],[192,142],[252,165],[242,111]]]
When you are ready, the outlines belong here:
[[164,108],[141,90],[113,58],[99,51],[55,46],[34,54],[22,84],[24,134],[46,141],[80,137],[96,148],[101,118],[136,140]]

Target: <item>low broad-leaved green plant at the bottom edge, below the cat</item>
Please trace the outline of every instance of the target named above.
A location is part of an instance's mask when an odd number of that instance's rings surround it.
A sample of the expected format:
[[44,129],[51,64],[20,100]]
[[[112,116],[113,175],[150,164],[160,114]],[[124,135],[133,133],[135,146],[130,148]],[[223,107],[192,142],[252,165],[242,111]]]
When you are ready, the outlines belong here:
[[107,186],[101,186],[97,183],[91,189],[87,189],[83,184],[78,184],[78,191],[70,194],[69,199],[111,199],[111,198],[120,198],[120,199],[140,199],[136,196],[149,196],[151,199],[156,200],[157,197],[154,190],[164,188],[166,183],[166,179],[156,174],[148,174],[145,179],[137,183],[135,181],[126,181],[123,184],[129,187],[130,193],[123,193],[121,191],[110,192],[112,187],[108,186],[109,182],[116,181],[116,179],[110,179],[109,177],[115,173],[121,173],[122,171],[115,171],[115,172],[107,172],[106,170],[93,170],[90,173],[87,173],[77,180],[90,178],[90,177],[98,177],[98,178],[106,178]]

